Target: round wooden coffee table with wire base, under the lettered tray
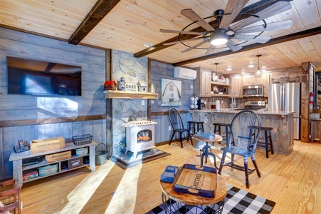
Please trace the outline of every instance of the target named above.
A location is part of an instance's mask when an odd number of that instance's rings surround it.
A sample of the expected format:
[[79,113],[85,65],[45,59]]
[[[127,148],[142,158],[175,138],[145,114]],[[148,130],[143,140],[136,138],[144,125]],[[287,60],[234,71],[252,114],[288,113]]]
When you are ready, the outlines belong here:
[[220,175],[217,176],[217,187],[214,198],[207,198],[190,193],[179,193],[174,190],[174,183],[161,181],[160,185],[162,188],[162,201],[165,213],[178,213],[178,209],[180,209],[181,212],[181,209],[184,210],[184,208],[188,211],[191,210],[193,206],[198,208],[197,213],[201,213],[201,209],[205,210],[206,213],[221,213],[224,198],[228,192],[227,184]]

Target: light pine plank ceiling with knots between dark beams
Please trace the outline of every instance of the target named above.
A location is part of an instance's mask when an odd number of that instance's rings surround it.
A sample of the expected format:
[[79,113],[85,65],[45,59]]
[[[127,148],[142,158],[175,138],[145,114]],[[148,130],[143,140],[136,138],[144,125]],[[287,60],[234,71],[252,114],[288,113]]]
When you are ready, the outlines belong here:
[[[250,0],[244,9],[257,2],[274,4],[277,1],[280,0]],[[208,42],[200,46],[202,49],[185,53],[181,53],[187,49],[183,44],[164,46],[165,41],[176,41],[177,34],[161,33],[159,29],[184,29],[191,20],[181,15],[181,10],[193,9],[204,18],[212,16],[217,9],[225,9],[228,0],[1,0],[0,27],[75,45],[125,51],[174,66],[201,66],[216,71],[214,63],[219,63],[220,73],[253,73],[258,67],[258,54],[262,55],[260,68],[267,71],[298,67],[306,61],[321,71],[321,0],[284,1],[290,2],[291,9],[265,21],[269,24],[290,19],[293,21],[290,29],[265,31],[263,36],[272,37],[266,44],[251,44],[236,52],[221,48],[207,55]],[[216,26],[215,18],[206,22]],[[191,24],[187,30],[197,28],[201,29]],[[152,47],[147,49],[143,46],[146,43]],[[198,43],[186,42],[189,46]],[[249,64],[254,68],[248,68]]]

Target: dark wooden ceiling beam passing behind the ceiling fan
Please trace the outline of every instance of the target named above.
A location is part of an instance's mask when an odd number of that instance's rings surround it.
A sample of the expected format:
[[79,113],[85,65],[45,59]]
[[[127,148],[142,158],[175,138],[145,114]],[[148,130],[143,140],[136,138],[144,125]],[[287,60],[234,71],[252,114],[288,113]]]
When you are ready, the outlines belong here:
[[[275,3],[277,3],[278,1],[293,1],[293,0],[261,0],[261,1],[258,1],[256,2],[255,4],[251,4],[250,6],[246,6],[245,8],[243,8],[241,10],[240,13],[245,13],[245,14],[256,14],[258,13],[258,11],[261,11],[263,9],[265,9],[266,7],[268,6],[271,6]],[[242,19],[245,19],[246,15],[241,15],[241,14],[238,14],[238,16],[236,16],[236,19],[233,20],[232,23],[236,22],[236,21],[240,21]],[[209,24],[211,26],[217,26],[217,21],[214,20],[214,21],[211,21],[209,22]],[[191,31],[196,31],[196,32],[202,32],[204,31],[203,28],[201,27],[197,27],[196,29],[192,29]],[[195,35],[181,35],[180,36],[180,39],[181,40],[184,40],[184,39],[191,39],[191,38],[194,38]],[[137,52],[134,54],[135,57],[142,57],[142,56],[147,56],[148,54],[152,54],[154,52],[157,52],[157,51],[161,51],[162,49],[167,49],[168,47],[170,46],[164,46],[165,43],[168,43],[168,42],[171,42],[171,41],[179,41],[178,40],[178,36],[175,36],[171,39],[167,39],[166,41],[162,41],[161,43],[159,44],[156,44],[152,47],[149,47],[148,49],[144,49],[140,52]]]

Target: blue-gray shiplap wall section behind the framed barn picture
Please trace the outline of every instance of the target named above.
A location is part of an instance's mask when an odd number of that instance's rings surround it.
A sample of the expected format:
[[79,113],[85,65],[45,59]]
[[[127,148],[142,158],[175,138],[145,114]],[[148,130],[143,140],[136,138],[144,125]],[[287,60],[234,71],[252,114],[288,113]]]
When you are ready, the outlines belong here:
[[[161,91],[162,91],[162,78],[173,79],[176,81],[181,81],[181,106],[161,106]],[[167,112],[169,108],[174,107],[179,111],[185,111],[189,109],[189,98],[193,96],[193,85],[192,80],[174,78],[174,66],[162,63],[158,61],[151,61],[151,83],[157,83],[157,93],[159,93],[159,98],[157,101],[151,104],[152,112]],[[182,113],[181,118],[183,123],[187,126],[187,121],[191,121],[191,113]],[[155,127],[155,141],[156,143],[169,141],[169,136],[171,131],[169,131],[169,120],[167,115],[152,116],[152,121],[158,124]]]

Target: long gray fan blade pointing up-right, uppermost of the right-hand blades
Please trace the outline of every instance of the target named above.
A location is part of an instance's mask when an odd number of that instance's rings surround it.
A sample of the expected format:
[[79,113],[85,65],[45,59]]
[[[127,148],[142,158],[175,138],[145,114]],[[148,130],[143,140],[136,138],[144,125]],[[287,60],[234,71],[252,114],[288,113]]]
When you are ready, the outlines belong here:
[[270,16],[280,14],[283,11],[291,9],[291,7],[292,6],[288,1],[278,1],[275,4],[268,6],[267,8],[263,9],[262,11],[256,13],[257,16],[260,16],[259,18],[255,17],[255,16],[250,16],[250,17],[238,22],[237,24],[231,26],[231,29],[233,29],[233,31],[236,31],[236,30],[241,29],[245,26],[248,26],[250,24],[253,24],[253,23],[256,23],[256,22],[261,21],[263,19],[266,19]]

